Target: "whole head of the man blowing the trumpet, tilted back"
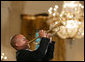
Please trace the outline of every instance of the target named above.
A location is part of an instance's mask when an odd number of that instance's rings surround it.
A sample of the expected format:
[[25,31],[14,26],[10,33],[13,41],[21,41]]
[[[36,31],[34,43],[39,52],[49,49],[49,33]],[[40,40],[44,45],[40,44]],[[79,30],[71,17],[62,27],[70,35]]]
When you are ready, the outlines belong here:
[[16,34],[11,39],[11,46],[16,50],[26,49],[28,48],[28,40],[25,36],[21,34]]

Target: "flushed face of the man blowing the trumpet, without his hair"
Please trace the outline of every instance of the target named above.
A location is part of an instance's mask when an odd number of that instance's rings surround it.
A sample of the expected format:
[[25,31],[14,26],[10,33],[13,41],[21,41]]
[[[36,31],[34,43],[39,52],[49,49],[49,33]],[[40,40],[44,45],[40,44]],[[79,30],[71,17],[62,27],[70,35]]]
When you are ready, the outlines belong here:
[[28,40],[23,35],[16,36],[16,46],[25,46],[27,45]]

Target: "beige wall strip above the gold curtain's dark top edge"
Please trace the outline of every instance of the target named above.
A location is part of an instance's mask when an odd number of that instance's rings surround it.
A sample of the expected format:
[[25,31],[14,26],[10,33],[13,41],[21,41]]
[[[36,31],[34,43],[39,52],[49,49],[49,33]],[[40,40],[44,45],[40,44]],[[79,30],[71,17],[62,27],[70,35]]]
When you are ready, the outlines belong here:
[[[54,7],[58,4],[59,7],[63,4],[62,1],[26,1],[24,5],[23,13],[26,14],[38,14],[38,13],[48,13],[50,7]],[[60,11],[61,8],[59,8]]]

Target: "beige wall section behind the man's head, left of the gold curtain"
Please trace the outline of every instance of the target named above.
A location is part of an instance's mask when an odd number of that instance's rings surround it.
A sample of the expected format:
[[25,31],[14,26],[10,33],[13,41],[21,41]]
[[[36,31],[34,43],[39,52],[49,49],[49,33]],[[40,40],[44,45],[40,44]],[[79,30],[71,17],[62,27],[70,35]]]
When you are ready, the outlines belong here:
[[22,2],[1,2],[1,53],[5,53],[8,61],[16,60],[16,51],[10,46],[10,38],[20,33],[22,11]]

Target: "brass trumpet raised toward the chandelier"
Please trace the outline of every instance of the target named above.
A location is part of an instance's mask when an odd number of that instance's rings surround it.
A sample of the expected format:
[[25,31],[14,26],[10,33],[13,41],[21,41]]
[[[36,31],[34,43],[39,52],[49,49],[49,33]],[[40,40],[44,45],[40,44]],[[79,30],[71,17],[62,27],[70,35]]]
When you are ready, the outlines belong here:
[[[52,37],[52,36],[54,36],[54,35],[60,30],[59,27],[62,26],[62,25],[63,25],[62,22],[58,22],[58,24],[55,24],[54,27],[52,27],[51,29],[47,30],[46,33],[49,33],[50,31],[52,31],[52,30],[55,29],[55,28],[58,28],[58,30],[57,30],[56,32],[54,32],[54,33],[52,33],[52,34],[50,35],[50,37]],[[39,37],[36,37],[36,38],[30,40],[30,41],[28,42],[28,44],[34,42],[34,41],[35,41],[36,39],[38,39],[38,38],[39,38]]]

